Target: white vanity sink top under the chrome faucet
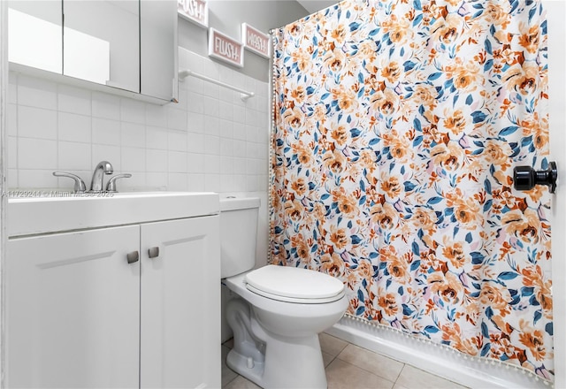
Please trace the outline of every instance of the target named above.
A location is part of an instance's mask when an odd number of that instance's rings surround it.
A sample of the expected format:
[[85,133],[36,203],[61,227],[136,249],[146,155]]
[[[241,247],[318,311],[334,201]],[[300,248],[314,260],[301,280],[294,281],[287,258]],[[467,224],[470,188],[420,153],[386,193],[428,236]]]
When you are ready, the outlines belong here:
[[43,193],[8,199],[9,237],[208,216],[220,209],[218,194],[210,192]]

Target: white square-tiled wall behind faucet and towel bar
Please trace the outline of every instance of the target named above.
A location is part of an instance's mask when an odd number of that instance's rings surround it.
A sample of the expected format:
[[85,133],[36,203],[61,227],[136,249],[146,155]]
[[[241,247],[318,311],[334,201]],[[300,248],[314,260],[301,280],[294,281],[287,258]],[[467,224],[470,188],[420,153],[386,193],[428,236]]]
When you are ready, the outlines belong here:
[[108,160],[132,173],[119,190],[265,192],[270,129],[269,85],[207,57],[180,49],[190,69],[240,93],[187,77],[180,102],[152,103],[10,73],[8,186],[72,190],[73,172],[90,184]]

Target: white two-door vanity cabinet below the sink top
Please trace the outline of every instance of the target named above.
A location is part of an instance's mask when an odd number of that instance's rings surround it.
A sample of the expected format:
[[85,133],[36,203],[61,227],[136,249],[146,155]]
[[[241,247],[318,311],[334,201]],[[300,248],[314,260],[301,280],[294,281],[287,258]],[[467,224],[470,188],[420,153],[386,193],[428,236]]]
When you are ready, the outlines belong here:
[[218,215],[94,224],[8,240],[6,387],[220,387]]

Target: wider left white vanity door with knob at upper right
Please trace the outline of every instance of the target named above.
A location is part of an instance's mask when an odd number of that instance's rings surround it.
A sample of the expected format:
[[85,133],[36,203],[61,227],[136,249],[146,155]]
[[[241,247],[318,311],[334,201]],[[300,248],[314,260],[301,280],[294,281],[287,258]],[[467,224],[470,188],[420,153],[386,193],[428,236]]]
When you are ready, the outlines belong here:
[[6,387],[139,387],[137,225],[8,241]]

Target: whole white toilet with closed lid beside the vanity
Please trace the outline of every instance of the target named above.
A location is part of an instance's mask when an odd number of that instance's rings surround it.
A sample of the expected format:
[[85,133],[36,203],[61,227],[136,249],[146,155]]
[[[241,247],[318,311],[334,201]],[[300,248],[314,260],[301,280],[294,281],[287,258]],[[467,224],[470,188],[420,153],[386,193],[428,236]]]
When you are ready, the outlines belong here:
[[256,263],[258,198],[220,200],[221,270],[241,298],[228,302],[227,365],[257,385],[325,388],[318,333],[348,307],[342,282],[318,271]]

